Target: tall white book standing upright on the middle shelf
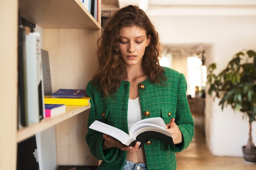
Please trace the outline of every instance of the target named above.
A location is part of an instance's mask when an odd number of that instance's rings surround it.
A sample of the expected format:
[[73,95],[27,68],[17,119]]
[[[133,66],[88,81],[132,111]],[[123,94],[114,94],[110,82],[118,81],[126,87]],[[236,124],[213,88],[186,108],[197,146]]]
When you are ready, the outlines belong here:
[[[25,76],[26,76],[26,94],[25,102],[27,105],[27,115],[29,124],[37,123],[39,121],[39,114],[44,115],[43,111],[43,97],[42,79],[40,75],[40,33],[29,33],[25,40]],[[41,96],[40,96],[41,95]],[[42,113],[43,112],[43,113]]]

